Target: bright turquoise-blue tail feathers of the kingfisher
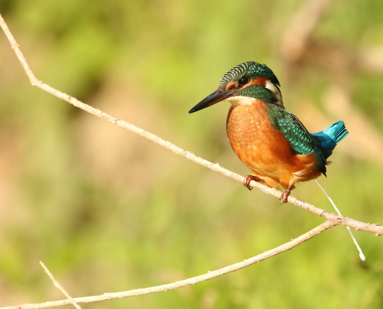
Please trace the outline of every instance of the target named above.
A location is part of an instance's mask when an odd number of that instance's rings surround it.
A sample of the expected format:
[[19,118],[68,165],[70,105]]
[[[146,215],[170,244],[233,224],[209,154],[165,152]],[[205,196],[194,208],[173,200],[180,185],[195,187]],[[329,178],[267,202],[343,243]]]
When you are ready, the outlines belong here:
[[337,143],[343,140],[349,132],[346,130],[343,121],[337,121],[336,123],[329,125],[323,131],[311,134],[318,138],[321,142],[321,148],[324,156],[327,159],[332,154]]

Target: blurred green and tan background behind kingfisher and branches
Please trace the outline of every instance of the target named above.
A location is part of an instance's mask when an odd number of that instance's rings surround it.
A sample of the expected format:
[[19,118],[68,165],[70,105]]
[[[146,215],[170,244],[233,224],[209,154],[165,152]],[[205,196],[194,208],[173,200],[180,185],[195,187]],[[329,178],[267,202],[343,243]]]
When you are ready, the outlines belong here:
[[[35,75],[242,175],[228,102],[187,111],[233,66],[266,63],[310,132],[349,136],[320,181],[343,215],[383,223],[381,0],[1,0]],[[315,182],[293,195],[333,211]],[[272,249],[323,219],[30,85],[0,33],[0,306],[170,283]],[[259,264],[83,308],[381,308],[382,239],[337,226]]]

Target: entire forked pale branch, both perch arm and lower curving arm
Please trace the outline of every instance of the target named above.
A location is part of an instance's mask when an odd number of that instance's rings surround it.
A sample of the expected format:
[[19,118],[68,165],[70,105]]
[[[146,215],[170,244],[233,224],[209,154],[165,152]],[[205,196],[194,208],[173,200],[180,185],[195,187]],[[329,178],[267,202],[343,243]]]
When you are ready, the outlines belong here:
[[[193,154],[190,151],[185,151],[185,150],[179,148],[178,146],[173,145],[169,141],[165,141],[162,138],[157,137],[156,135],[154,135],[150,132],[147,132],[145,130],[142,130],[141,128],[138,128],[138,127],[130,124],[129,122],[125,122],[125,121],[120,120],[118,118],[112,117],[112,116],[110,116],[110,115],[108,115],[108,114],[106,114],[106,113],[104,113],[98,109],[95,109],[92,106],[89,106],[87,104],[84,104],[83,102],[80,102],[76,98],[73,98],[66,93],[62,93],[61,91],[58,91],[58,90],[52,88],[51,86],[43,83],[43,81],[39,81],[34,76],[32,70],[29,68],[29,65],[26,62],[25,57],[21,53],[21,50],[19,48],[20,46],[16,43],[15,38],[12,36],[7,24],[5,23],[5,21],[3,20],[1,15],[0,15],[0,26],[3,29],[4,33],[6,34],[8,40],[10,41],[12,49],[15,50],[15,53],[16,53],[18,59],[20,60],[21,64],[23,65],[23,68],[24,68],[26,74],[28,75],[29,80],[31,81],[32,85],[37,86],[40,89],[43,89],[44,91],[51,93],[54,96],[57,96],[58,98],[63,99],[65,101],[69,102],[70,104],[73,104],[74,106],[79,107],[79,108],[81,108],[81,109],[83,109],[83,110],[85,110],[85,111],[87,111],[93,115],[96,115],[100,118],[108,120],[109,122],[111,122],[111,123],[113,123],[113,124],[115,124],[121,128],[126,128],[126,129],[128,129],[134,133],[137,133],[143,137],[146,137],[147,139],[154,141],[155,143],[157,143],[161,146],[164,146],[165,148],[172,150],[173,152],[180,154],[181,156],[183,156],[183,157],[185,157],[185,158],[187,158],[187,159],[189,159],[195,163],[206,166],[207,168],[210,168],[213,171],[219,172],[221,174],[224,174],[225,176],[231,177],[231,178],[243,183],[243,181],[244,181],[243,176],[236,174],[234,172],[231,172],[227,169],[222,168],[221,166],[219,166],[218,163],[213,164],[213,163],[211,163],[205,159],[197,157],[197,156],[195,156],[195,154]],[[250,185],[252,187],[255,187],[255,188],[261,190],[262,192],[267,193],[267,194],[274,195],[275,197],[278,197],[278,198],[281,197],[282,192],[275,190],[275,189],[271,189],[269,187],[266,187],[265,185],[259,184],[258,182],[252,181],[252,182],[250,182]],[[196,276],[196,277],[189,278],[189,279],[182,280],[182,281],[176,281],[175,283],[170,283],[170,284],[166,284],[166,285],[154,286],[151,288],[134,289],[134,290],[125,291],[125,292],[105,293],[105,294],[98,295],[98,296],[75,298],[74,301],[75,302],[92,302],[92,301],[100,301],[100,300],[113,299],[113,298],[124,298],[124,297],[128,297],[128,296],[156,293],[159,291],[167,291],[169,289],[180,288],[182,286],[188,286],[188,285],[195,284],[195,283],[198,283],[201,281],[209,280],[211,278],[215,278],[217,276],[224,275],[224,274],[229,273],[229,272],[234,272],[235,270],[239,270],[241,268],[247,267],[247,266],[252,265],[254,263],[268,259],[269,257],[277,255],[281,252],[289,250],[295,246],[298,246],[302,242],[314,237],[315,235],[321,233],[322,231],[324,231],[328,228],[331,228],[332,226],[335,226],[335,225],[350,226],[350,227],[355,228],[357,230],[363,230],[363,231],[375,233],[376,236],[383,234],[383,227],[379,226],[379,224],[363,223],[363,222],[360,222],[360,221],[357,221],[357,220],[354,220],[351,218],[336,215],[334,213],[328,213],[327,211],[322,210],[321,208],[315,207],[314,205],[311,205],[309,203],[305,203],[305,202],[298,200],[297,198],[292,197],[292,196],[290,196],[288,198],[288,201],[290,203],[293,203],[294,205],[297,205],[301,208],[304,208],[308,211],[311,211],[312,213],[315,213],[316,215],[319,215],[319,216],[326,218],[327,221],[322,223],[321,225],[317,226],[316,228],[312,229],[311,231],[303,234],[302,236],[300,236],[296,239],[293,239],[290,242],[287,242],[286,244],[283,244],[277,248],[266,251],[260,255],[252,257],[250,259],[244,260],[243,262],[236,263],[234,265],[230,265],[228,267],[224,267],[224,268],[221,268],[219,270],[214,270],[213,272],[208,272],[204,275]],[[12,309],[16,309],[16,308],[19,308],[19,309],[47,308],[47,307],[63,306],[63,305],[67,305],[70,303],[71,302],[69,299],[65,299],[65,300],[61,300],[61,301],[44,302],[41,304],[24,304],[24,305],[20,305],[20,306],[10,306],[10,307],[4,307],[4,308],[0,308],[0,309],[5,309],[5,308],[7,308],[7,309],[11,309],[11,308]]]

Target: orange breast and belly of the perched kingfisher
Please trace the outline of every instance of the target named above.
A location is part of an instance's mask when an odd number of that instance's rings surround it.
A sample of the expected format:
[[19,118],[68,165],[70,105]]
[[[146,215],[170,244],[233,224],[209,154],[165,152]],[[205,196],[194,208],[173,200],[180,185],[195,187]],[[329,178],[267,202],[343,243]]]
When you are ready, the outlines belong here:
[[268,186],[285,189],[293,182],[320,176],[314,154],[295,154],[273,127],[264,102],[232,106],[226,121],[228,140],[237,157]]

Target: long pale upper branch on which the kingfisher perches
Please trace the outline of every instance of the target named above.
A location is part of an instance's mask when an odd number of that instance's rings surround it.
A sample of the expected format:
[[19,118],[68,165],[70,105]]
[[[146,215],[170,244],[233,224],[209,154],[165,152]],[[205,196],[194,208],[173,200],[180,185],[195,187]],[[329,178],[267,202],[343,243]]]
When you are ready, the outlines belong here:
[[[177,153],[177,154],[179,154],[179,155],[181,155],[181,156],[183,156],[183,157],[185,157],[185,158],[187,158],[187,159],[189,159],[195,163],[201,164],[207,168],[212,169],[213,171],[219,172],[219,173],[221,173],[227,177],[231,177],[232,179],[235,179],[236,181],[243,183],[243,181],[244,181],[243,176],[236,174],[232,171],[229,171],[228,169],[222,168],[221,166],[219,166],[218,163],[214,164],[214,163],[211,163],[205,159],[202,159],[201,157],[197,157],[191,151],[183,150],[182,148],[170,143],[169,141],[163,140],[162,138],[158,137],[157,135],[154,135],[153,133],[150,133],[146,130],[142,130],[141,128],[136,127],[135,125],[130,124],[129,122],[126,122],[126,121],[123,121],[121,119],[112,117],[111,115],[108,115],[105,112],[100,111],[99,109],[96,109],[96,108],[94,108],[88,104],[85,104],[85,103],[77,100],[76,98],[69,96],[66,93],[62,93],[61,91],[56,90],[56,89],[52,88],[51,86],[43,83],[43,81],[38,80],[36,78],[36,76],[34,76],[31,68],[29,68],[28,63],[26,62],[26,59],[20,50],[20,46],[16,43],[15,38],[11,34],[11,31],[9,30],[5,21],[3,20],[1,14],[0,14],[0,26],[3,29],[4,33],[6,34],[9,42],[11,43],[13,50],[15,50],[15,53],[16,53],[18,59],[20,60],[21,65],[23,65],[25,73],[28,75],[29,80],[31,81],[32,85],[37,86],[38,88],[43,89],[47,93],[53,94],[57,98],[60,98],[64,101],[67,101],[70,104],[72,104],[76,107],[79,107],[79,108],[83,109],[84,111],[86,111],[90,114],[93,114],[97,117],[105,119],[105,120],[111,122],[112,124],[117,125],[118,127],[130,130],[134,133],[137,133],[138,135],[141,135],[141,136],[147,138],[148,140],[154,141],[155,143],[157,143],[161,146],[164,146],[165,148],[167,148],[167,149],[169,149],[169,150],[171,150],[171,151],[173,151],[173,152],[175,152],[175,153]],[[281,194],[282,194],[281,191],[273,189],[273,188],[269,188],[265,185],[260,184],[259,182],[251,181],[250,185],[254,188],[261,190],[262,192],[264,192],[266,194],[270,194],[270,195],[273,195],[273,196],[278,197],[278,198],[281,197]],[[316,215],[322,216],[329,221],[337,222],[337,224],[350,226],[351,228],[355,228],[355,229],[361,230],[361,231],[372,232],[372,233],[375,233],[376,236],[383,235],[383,227],[379,226],[379,224],[363,223],[363,222],[360,222],[360,221],[357,221],[354,219],[350,219],[347,217],[336,215],[334,213],[328,213],[327,211],[325,211],[321,208],[315,207],[314,205],[311,205],[309,203],[298,200],[298,198],[295,198],[291,195],[288,197],[288,202],[290,202],[296,206],[299,206],[301,208],[304,208],[308,211],[311,211],[312,213],[315,213]]]

